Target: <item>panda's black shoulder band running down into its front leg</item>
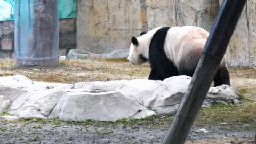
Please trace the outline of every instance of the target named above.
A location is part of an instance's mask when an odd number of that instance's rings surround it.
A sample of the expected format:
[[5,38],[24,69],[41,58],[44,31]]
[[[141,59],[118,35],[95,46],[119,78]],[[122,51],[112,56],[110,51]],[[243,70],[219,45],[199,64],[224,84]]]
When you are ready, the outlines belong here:
[[163,80],[171,76],[178,76],[177,67],[167,58],[164,52],[164,43],[170,27],[163,27],[156,31],[149,45],[149,62],[151,72],[149,79]]

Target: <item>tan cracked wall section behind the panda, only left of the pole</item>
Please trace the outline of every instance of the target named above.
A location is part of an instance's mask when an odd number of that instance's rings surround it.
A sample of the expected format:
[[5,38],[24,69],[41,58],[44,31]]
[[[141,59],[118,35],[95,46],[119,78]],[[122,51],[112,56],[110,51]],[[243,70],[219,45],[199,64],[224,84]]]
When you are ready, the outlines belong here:
[[77,1],[77,47],[92,53],[127,49],[132,36],[159,26],[211,29],[218,0]]

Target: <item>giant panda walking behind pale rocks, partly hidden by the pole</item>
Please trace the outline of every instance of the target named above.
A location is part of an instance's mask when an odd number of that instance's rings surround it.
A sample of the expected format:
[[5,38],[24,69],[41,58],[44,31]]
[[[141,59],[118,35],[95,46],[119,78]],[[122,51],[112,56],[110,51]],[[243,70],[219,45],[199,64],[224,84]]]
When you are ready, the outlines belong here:
[[[128,60],[133,65],[149,61],[148,79],[163,80],[171,76],[193,76],[209,33],[199,27],[158,27],[132,37]],[[214,77],[214,86],[230,85],[224,57]]]

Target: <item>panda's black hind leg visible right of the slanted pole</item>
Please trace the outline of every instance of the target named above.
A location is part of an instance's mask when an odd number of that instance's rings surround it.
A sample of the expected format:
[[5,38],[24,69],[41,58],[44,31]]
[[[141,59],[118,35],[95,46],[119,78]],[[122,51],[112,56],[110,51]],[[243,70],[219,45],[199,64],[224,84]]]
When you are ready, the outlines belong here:
[[220,66],[214,77],[214,86],[220,86],[222,84],[230,86],[230,78],[227,67]]

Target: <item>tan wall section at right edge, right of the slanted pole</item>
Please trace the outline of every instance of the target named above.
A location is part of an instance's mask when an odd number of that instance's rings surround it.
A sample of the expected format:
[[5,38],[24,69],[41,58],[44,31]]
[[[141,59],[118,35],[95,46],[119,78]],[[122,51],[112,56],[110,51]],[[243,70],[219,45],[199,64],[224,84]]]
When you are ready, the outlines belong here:
[[[222,0],[220,0],[220,4]],[[232,67],[255,67],[256,65],[256,4],[247,1],[235,32],[230,40],[226,57]]]

